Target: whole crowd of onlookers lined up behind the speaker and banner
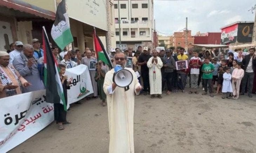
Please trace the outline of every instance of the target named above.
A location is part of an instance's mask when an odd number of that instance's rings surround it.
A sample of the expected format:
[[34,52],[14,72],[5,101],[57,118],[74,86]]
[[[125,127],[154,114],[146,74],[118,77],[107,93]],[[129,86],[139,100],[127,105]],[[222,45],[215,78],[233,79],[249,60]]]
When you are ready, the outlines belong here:
[[[16,41],[10,44],[12,51],[0,51],[0,98],[45,88],[42,71],[44,51],[40,47],[41,43],[35,38],[32,40],[32,44],[23,45],[22,42]],[[80,50],[67,51],[64,49],[60,52],[57,46],[51,47],[52,53],[60,65],[60,70],[80,64],[90,67],[90,61],[96,62],[96,69],[89,70],[94,93],[88,95],[86,100],[99,96],[102,105],[106,106],[106,93],[103,90],[103,84],[106,73],[110,71],[109,66],[102,61],[97,61],[95,51],[89,48],[86,48],[85,52],[81,54]],[[125,56],[124,59],[116,57],[116,54],[121,52]],[[150,94],[150,98],[162,98],[163,92],[166,92],[167,95],[179,90],[185,93],[187,84],[190,88],[189,94],[199,94],[198,88],[201,82],[202,95],[207,95],[209,91],[211,97],[222,92],[223,99],[236,100],[239,95],[247,93],[249,97],[252,97],[252,94],[256,92],[255,48],[251,48],[249,51],[236,49],[225,52],[219,52],[218,49],[206,50],[206,48],[202,48],[200,52],[193,49],[185,51],[184,48],[181,48],[174,52],[171,48],[151,51],[148,47],[139,46],[135,51],[130,47],[123,51],[119,48],[112,49],[109,58],[114,67],[123,60],[132,59],[132,69],[138,81],[143,85],[143,91],[140,94]],[[63,72],[65,73],[65,70],[60,73]],[[60,79],[64,83],[67,76],[63,76],[63,74],[60,74]],[[65,85],[68,82],[66,81]],[[66,86],[65,89],[69,89],[69,87]],[[77,104],[81,104],[81,102],[77,102]],[[59,112],[63,117],[63,112]],[[56,118],[58,121],[58,117]],[[58,123],[69,123],[65,118],[60,119]],[[59,129],[63,129],[61,125]]]

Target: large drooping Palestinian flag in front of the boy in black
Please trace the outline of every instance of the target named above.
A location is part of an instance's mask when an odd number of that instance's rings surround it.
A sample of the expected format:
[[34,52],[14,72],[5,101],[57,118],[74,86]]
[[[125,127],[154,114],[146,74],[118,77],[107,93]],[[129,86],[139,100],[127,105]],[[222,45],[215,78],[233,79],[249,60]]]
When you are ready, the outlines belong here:
[[46,88],[46,102],[47,103],[61,103],[64,110],[67,111],[65,103],[65,96],[59,76],[59,65],[51,51],[48,36],[43,27],[43,61],[44,68],[44,83]]

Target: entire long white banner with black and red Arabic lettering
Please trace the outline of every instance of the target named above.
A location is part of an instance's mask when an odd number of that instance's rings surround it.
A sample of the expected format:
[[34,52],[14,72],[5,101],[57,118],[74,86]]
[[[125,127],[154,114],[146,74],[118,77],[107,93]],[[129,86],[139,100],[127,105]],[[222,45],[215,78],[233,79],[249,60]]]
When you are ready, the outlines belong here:
[[[67,90],[68,105],[93,93],[86,65],[66,69],[73,77]],[[0,99],[0,153],[18,146],[54,121],[54,107],[45,101],[45,90]]]

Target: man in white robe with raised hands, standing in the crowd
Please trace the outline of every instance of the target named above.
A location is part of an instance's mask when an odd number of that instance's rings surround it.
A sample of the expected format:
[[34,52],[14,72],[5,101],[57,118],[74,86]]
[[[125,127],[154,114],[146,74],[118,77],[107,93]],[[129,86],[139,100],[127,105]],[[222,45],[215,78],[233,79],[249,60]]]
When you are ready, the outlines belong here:
[[157,97],[162,98],[162,74],[161,67],[163,62],[160,57],[157,56],[157,51],[152,51],[153,57],[148,60],[147,66],[149,68],[149,85],[150,85],[150,98]]

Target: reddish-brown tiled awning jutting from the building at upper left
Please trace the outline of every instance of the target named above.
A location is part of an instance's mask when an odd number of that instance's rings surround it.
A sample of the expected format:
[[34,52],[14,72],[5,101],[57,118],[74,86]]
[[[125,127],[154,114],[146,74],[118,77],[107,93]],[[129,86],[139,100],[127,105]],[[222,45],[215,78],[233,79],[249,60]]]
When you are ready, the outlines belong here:
[[0,0],[0,6],[5,6],[10,9],[19,10],[20,12],[33,14],[35,16],[43,17],[45,19],[55,20],[54,12],[42,9],[21,0]]

